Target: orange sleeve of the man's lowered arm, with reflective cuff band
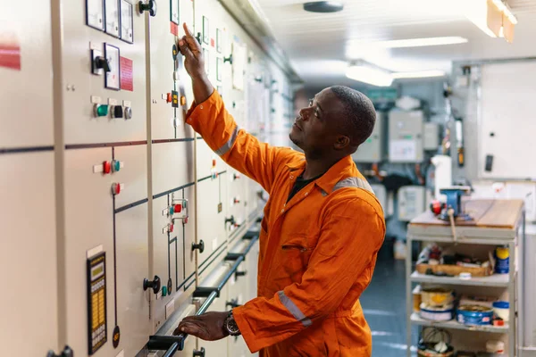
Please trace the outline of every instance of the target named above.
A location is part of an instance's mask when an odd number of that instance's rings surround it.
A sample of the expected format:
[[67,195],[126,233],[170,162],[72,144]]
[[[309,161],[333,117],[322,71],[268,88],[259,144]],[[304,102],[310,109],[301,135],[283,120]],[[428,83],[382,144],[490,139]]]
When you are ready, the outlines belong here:
[[322,320],[337,310],[350,288],[357,299],[368,285],[365,270],[383,242],[383,217],[360,198],[331,204],[324,217],[321,237],[302,281],[270,299],[257,297],[233,309],[252,353]]

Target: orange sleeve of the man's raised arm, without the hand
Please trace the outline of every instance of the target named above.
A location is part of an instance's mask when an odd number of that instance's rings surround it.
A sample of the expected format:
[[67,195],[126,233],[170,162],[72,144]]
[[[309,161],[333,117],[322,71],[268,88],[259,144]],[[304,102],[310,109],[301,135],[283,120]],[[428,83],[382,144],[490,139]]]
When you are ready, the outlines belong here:
[[186,122],[224,162],[254,179],[269,193],[281,164],[300,155],[290,148],[261,143],[240,129],[216,90],[205,102],[192,105],[186,114]]

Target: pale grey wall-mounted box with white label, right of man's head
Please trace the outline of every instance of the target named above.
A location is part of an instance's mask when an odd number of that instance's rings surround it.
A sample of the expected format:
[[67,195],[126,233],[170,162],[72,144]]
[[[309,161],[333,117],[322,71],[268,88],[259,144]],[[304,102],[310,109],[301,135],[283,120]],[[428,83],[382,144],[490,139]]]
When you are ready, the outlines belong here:
[[423,161],[422,111],[389,112],[389,162]]

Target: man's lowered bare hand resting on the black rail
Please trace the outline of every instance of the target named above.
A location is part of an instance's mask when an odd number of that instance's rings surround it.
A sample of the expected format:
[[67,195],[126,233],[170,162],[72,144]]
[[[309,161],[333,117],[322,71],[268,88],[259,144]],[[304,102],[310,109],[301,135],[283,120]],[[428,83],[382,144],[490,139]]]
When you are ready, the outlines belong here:
[[188,316],[180,321],[179,327],[175,328],[173,335],[184,333],[205,341],[220,340],[229,336],[229,333],[223,328],[223,322],[228,314],[228,312],[206,312],[199,316]]

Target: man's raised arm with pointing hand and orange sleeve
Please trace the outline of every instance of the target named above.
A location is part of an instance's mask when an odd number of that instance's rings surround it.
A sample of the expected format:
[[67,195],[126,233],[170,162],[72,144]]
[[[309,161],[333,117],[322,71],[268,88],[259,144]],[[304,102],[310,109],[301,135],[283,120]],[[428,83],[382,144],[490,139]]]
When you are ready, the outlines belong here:
[[185,57],[185,67],[192,78],[196,102],[188,111],[186,122],[225,162],[270,192],[278,168],[300,154],[289,148],[261,143],[239,128],[206,76],[201,46],[188,26],[183,27],[186,36],[180,38],[180,53]]

